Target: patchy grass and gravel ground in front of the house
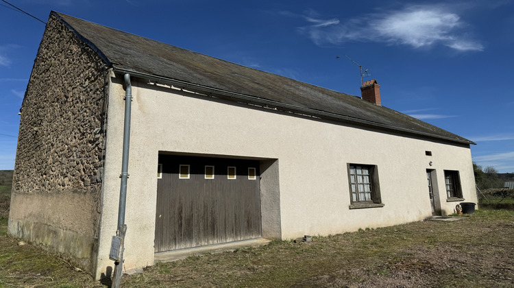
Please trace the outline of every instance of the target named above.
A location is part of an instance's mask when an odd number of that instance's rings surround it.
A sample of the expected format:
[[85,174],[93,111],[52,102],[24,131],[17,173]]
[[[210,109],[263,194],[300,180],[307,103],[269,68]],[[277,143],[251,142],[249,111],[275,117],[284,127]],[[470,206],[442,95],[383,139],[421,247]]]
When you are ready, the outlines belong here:
[[[0,224],[0,287],[106,287]],[[123,287],[513,287],[514,212],[273,241],[158,263]],[[105,283],[105,282],[104,282]]]

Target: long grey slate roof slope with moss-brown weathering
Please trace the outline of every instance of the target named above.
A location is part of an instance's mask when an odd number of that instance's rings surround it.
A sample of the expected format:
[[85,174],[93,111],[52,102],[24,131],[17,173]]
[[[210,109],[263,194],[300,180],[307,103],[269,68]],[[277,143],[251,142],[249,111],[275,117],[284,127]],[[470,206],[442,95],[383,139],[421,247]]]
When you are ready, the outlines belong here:
[[[321,88],[287,77],[122,32],[66,14],[51,12],[114,68],[164,79],[180,80],[255,99],[307,109],[313,115],[380,129],[474,144],[456,134],[360,97]],[[280,105],[279,105],[280,106]],[[317,115],[318,114],[318,115]]]

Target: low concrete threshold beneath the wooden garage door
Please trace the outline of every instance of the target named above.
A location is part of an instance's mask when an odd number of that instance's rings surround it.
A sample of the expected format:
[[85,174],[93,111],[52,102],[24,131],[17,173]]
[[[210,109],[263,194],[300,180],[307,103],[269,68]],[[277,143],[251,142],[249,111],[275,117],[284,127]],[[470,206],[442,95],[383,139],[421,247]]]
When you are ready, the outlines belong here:
[[167,252],[159,252],[159,253],[156,253],[154,256],[154,263],[177,261],[180,259],[186,259],[188,256],[199,256],[199,255],[205,254],[205,253],[219,253],[219,252],[234,251],[238,248],[245,248],[245,247],[259,247],[262,245],[267,245],[270,242],[271,242],[271,240],[258,238],[258,239],[234,241],[234,242],[229,242],[229,243],[221,243],[221,244],[207,245],[207,246],[194,247],[194,248],[186,248],[186,249],[173,250],[173,251],[167,251]]

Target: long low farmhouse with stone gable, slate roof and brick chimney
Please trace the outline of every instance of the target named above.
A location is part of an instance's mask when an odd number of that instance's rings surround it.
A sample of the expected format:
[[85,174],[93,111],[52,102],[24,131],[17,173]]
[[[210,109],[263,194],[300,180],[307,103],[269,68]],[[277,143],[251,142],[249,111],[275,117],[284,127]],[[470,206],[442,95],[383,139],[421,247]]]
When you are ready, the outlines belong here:
[[9,232],[106,275],[130,96],[125,269],[186,248],[391,226],[476,202],[472,141],[381,106],[376,80],[361,90],[51,12],[21,107]]

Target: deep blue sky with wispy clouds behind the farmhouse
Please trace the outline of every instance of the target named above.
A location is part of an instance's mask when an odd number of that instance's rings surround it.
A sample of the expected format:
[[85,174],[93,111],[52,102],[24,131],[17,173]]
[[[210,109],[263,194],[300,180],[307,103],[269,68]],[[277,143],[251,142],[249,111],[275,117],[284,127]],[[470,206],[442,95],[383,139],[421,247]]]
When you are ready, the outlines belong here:
[[[514,1],[8,0],[335,91],[477,143],[473,160],[514,172]],[[0,1],[0,169],[14,169],[19,108],[45,25]],[[339,56],[340,58],[336,58]]]

